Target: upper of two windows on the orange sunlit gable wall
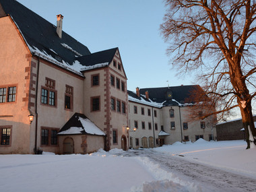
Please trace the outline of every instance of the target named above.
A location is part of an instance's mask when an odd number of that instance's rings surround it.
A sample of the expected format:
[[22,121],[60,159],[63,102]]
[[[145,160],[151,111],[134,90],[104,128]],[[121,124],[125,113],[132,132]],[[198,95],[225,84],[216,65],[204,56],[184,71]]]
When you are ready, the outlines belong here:
[[17,84],[0,86],[0,104],[17,102],[17,90]]

